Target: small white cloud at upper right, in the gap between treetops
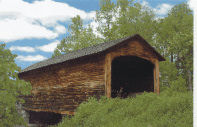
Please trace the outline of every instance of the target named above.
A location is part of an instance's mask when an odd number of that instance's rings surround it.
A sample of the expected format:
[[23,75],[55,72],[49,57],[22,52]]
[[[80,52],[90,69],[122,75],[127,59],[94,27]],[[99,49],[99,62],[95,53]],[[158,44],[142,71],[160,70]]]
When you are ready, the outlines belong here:
[[173,5],[163,3],[154,8],[153,11],[155,11],[157,15],[166,15],[172,7]]

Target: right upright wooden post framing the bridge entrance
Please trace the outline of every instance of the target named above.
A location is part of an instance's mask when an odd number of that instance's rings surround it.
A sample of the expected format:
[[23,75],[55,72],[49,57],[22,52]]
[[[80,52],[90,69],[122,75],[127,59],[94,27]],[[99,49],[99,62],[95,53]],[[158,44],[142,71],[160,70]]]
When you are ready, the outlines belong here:
[[154,67],[154,92],[159,94],[159,61],[155,61]]

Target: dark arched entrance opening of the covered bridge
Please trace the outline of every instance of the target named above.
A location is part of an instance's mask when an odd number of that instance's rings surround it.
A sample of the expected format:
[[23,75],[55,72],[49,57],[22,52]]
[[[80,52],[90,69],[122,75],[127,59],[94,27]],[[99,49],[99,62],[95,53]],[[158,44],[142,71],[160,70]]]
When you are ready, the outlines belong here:
[[154,90],[154,65],[136,56],[121,56],[112,61],[111,97],[125,98]]

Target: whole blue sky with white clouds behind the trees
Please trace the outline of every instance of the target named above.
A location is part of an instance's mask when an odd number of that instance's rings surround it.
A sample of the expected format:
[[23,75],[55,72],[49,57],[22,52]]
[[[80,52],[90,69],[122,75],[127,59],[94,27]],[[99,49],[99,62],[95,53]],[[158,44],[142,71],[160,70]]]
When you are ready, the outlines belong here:
[[[136,0],[163,17],[174,5],[192,0]],[[17,54],[22,69],[50,58],[65,37],[70,18],[91,23],[99,0],[0,0],[0,44]]]

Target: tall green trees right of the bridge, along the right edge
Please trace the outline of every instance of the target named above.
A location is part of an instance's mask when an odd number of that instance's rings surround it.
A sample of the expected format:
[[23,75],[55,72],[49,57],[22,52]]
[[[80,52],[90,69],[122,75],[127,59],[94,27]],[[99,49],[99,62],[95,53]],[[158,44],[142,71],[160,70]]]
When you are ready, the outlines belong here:
[[167,17],[159,20],[156,35],[155,41],[159,42],[155,44],[157,50],[170,58],[177,69],[177,76],[181,75],[192,90],[193,14],[188,5],[183,3],[174,6]]

